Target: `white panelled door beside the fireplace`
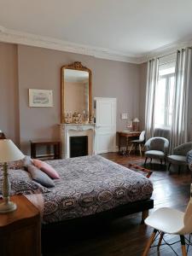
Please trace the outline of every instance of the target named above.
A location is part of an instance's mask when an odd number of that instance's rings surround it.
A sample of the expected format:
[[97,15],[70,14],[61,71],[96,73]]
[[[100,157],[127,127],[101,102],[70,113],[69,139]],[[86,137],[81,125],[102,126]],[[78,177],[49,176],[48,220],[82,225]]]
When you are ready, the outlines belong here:
[[96,154],[116,151],[116,98],[95,98]]

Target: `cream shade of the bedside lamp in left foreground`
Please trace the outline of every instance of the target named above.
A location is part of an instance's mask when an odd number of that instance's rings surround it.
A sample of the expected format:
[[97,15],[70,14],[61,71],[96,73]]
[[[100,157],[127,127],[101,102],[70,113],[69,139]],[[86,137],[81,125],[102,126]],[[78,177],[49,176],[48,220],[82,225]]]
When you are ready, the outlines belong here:
[[0,163],[21,160],[25,157],[9,139],[0,140]]

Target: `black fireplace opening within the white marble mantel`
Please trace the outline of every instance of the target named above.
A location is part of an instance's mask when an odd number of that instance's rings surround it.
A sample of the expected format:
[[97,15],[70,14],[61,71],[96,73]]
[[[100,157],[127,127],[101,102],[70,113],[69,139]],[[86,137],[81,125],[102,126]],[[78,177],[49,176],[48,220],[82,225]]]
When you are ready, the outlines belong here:
[[70,157],[88,154],[88,136],[70,137]]

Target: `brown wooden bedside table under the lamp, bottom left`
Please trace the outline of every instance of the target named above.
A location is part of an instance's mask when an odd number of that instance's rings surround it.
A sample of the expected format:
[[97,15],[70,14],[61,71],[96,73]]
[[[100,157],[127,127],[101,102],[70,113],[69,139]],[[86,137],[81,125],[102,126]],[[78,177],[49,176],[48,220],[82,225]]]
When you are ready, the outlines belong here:
[[0,214],[0,255],[40,256],[41,221],[38,208],[24,195],[11,197],[15,212]]

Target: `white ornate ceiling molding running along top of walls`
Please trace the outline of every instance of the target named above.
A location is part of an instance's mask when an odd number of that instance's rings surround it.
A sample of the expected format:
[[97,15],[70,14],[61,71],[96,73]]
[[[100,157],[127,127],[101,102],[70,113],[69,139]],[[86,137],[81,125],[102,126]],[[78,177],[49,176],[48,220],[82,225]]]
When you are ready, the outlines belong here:
[[178,41],[173,44],[166,44],[163,47],[154,49],[142,56],[127,55],[127,53],[119,52],[101,47],[93,47],[85,44],[74,44],[64,40],[55,38],[38,36],[32,33],[19,32],[0,26],[0,42],[10,44],[24,44],[29,46],[41,47],[45,49],[56,49],[76,54],[90,55],[100,59],[123,61],[134,64],[142,64],[153,57],[168,55],[183,47],[192,46],[192,39],[187,42]]

